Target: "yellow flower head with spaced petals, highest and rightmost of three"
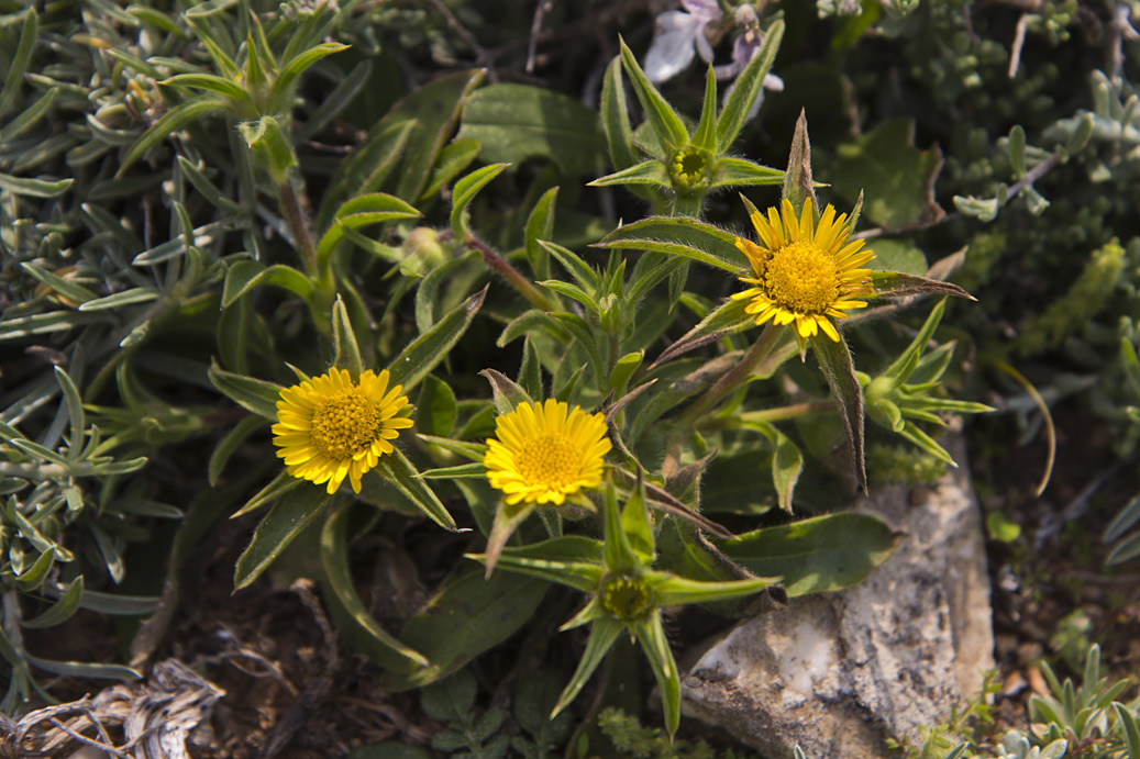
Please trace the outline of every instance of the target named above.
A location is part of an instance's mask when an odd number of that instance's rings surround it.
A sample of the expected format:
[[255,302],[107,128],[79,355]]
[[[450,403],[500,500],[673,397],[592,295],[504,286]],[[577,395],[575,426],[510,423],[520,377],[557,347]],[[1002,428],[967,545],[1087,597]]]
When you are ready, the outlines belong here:
[[758,325],[769,319],[777,325],[795,321],[801,350],[806,338],[819,330],[838,342],[839,332],[831,319],[846,318],[844,309],[866,305],[857,299],[873,292],[868,280],[871,270],[860,267],[874,253],[862,250],[861,239],[847,242],[847,214],[837,218],[830,205],[820,217],[819,228],[812,223],[811,198],[804,201],[799,219],[787,198],[782,211],[777,214],[769,207],[765,219],[752,210],[752,226],[762,244],[738,237],[736,247],[748,256],[756,277],[741,277],[754,286],[732,297],[751,301],[744,311],[755,313]]

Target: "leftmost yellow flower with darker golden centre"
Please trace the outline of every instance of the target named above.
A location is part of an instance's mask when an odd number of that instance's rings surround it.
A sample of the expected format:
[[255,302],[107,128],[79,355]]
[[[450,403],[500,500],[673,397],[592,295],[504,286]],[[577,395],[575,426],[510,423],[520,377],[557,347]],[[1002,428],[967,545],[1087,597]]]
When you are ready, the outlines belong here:
[[408,403],[401,385],[388,387],[388,372],[370,369],[352,382],[344,369],[282,390],[277,401],[274,444],[285,471],[295,478],[328,483],[334,493],[344,482],[360,492],[360,478],[391,454],[390,441],[412,419],[397,416]]

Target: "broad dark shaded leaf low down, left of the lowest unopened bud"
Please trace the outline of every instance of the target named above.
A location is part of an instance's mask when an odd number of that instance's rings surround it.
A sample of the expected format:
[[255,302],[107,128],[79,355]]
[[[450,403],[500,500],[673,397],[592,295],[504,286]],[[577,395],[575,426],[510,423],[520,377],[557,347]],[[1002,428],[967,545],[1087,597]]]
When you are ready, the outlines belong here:
[[415,640],[431,664],[390,675],[384,684],[391,691],[406,691],[447,677],[514,635],[530,620],[548,587],[542,580],[504,572],[484,580],[478,569],[451,574],[400,636]]

